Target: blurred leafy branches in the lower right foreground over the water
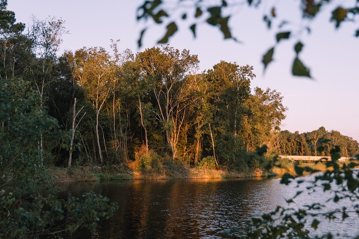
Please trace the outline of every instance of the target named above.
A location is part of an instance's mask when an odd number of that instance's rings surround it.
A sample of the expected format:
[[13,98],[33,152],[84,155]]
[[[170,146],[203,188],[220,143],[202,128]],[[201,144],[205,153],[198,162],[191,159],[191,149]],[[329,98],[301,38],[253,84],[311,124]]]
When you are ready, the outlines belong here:
[[[251,218],[247,222],[245,238],[313,238],[311,230],[317,230],[323,220],[339,219],[345,221],[350,216],[359,216],[359,174],[354,167],[359,166],[358,157],[352,159],[349,163],[339,163],[337,160],[341,157],[340,148],[334,147],[331,151],[332,161],[326,162],[326,171],[319,173],[314,177],[313,181],[294,177],[285,174],[281,183],[297,183],[302,190],[289,199],[286,199],[291,207],[278,206],[274,211],[270,211],[261,215],[261,217]],[[279,166],[276,157],[273,158],[274,165]],[[298,177],[305,172],[315,172],[310,167],[294,166],[295,173]],[[301,187],[302,184],[305,186]],[[299,195],[323,190],[329,192],[326,203],[313,202],[309,205],[301,205],[296,203]],[[326,194],[327,195],[327,194]],[[338,202],[345,202],[345,206],[337,206]],[[326,208],[330,203],[336,207]],[[330,232],[324,235],[316,236],[316,238],[333,238]],[[337,235],[338,236],[338,235]]]

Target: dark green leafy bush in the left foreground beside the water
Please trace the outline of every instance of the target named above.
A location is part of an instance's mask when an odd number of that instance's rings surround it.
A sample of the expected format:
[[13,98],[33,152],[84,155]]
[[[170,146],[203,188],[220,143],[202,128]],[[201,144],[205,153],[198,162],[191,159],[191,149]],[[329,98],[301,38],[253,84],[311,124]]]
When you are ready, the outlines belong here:
[[[108,199],[87,194],[67,202],[56,197],[46,164],[48,150],[59,142],[57,120],[46,115],[30,83],[1,80],[0,87],[0,237],[28,238],[93,229],[94,219],[108,217],[116,208]],[[42,136],[42,137],[40,137]],[[40,139],[47,142],[39,148]],[[65,219],[65,211],[70,214]],[[66,228],[59,226],[66,220]]]

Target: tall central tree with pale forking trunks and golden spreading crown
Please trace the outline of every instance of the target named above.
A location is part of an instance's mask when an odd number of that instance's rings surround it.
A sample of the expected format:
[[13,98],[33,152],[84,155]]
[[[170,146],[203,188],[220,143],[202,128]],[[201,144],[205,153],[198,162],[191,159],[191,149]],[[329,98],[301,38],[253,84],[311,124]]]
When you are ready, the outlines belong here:
[[166,140],[173,159],[177,154],[177,143],[182,126],[189,91],[186,90],[187,76],[198,64],[196,55],[188,50],[179,52],[170,46],[150,48],[137,55],[143,77],[153,90],[156,99],[157,119],[166,132]]

